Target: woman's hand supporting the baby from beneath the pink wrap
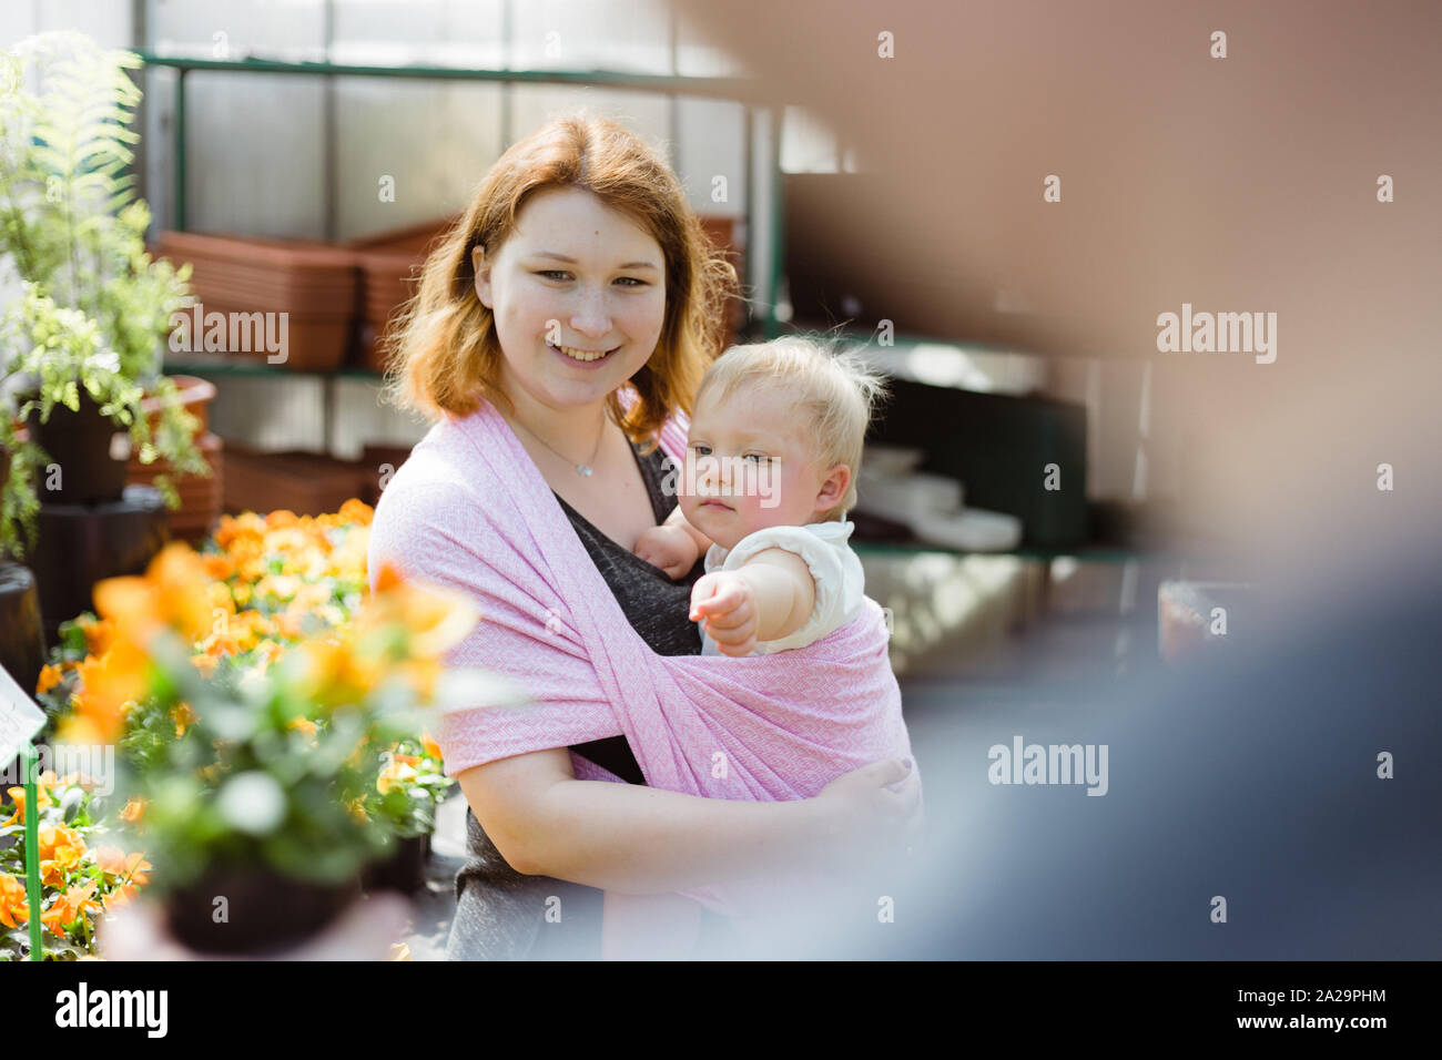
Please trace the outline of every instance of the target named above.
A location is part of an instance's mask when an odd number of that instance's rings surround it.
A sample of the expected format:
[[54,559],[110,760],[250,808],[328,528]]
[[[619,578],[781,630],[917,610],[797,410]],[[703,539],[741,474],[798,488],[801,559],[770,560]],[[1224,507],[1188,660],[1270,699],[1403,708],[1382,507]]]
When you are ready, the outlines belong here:
[[926,819],[921,782],[911,759],[885,759],[842,773],[816,793],[832,854],[846,864],[857,855],[910,854]]

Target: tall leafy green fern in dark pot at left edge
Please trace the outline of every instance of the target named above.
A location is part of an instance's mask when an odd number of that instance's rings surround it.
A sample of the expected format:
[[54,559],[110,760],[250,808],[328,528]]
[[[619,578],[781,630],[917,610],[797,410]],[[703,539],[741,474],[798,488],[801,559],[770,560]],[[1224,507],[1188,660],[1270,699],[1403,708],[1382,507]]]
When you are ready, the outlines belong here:
[[[138,138],[131,52],[74,32],[0,52],[0,270],[17,294],[0,317],[0,548],[35,541],[37,487],[56,500],[118,499],[131,449],[176,474],[209,473],[198,421],[162,375],[163,337],[186,296],[144,251],[150,212],[125,173]],[[147,414],[146,397],[159,402]],[[174,508],[169,476],[154,483]]]

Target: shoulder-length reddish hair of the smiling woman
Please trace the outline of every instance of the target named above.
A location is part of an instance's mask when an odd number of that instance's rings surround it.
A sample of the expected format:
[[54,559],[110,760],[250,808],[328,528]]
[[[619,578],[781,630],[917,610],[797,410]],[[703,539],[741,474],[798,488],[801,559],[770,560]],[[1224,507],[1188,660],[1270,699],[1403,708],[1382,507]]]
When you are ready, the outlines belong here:
[[666,314],[656,350],[630,381],[639,401],[627,412],[617,394],[607,398],[632,440],[653,441],[672,411],[692,412],[701,376],[721,352],[738,278],[671,167],[637,134],[585,110],[552,118],[512,144],[434,245],[415,296],[386,339],[388,394],[433,420],[469,415],[482,398],[513,412],[499,387],[500,343],[492,312],[476,296],[472,251],[499,254],[526,199],[542,187],[585,189],[660,244]]

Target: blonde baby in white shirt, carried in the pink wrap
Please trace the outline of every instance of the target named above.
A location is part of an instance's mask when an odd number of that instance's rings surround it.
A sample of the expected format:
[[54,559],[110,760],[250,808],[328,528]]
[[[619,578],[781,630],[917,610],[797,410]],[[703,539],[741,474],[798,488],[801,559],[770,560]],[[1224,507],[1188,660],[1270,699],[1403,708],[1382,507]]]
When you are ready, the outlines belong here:
[[[705,552],[691,591],[704,655],[805,648],[857,617],[864,580],[845,516],[881,394],[881,379],[852,356],[800,337],[735,346],[709,368],[681,503],[633,549],[672,578]],[[699,911],[675,894],[607,893],[603,956],[684,958]]]

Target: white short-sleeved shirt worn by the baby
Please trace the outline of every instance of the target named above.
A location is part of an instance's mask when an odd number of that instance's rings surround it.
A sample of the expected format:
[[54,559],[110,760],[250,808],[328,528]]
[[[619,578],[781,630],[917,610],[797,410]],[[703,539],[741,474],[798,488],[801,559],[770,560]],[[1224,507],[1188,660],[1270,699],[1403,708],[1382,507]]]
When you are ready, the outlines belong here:
[[[705,571],[734,571],[757,552],[784,548],[806,561],[816,581],[816,606],[806,623],[790,636],[757,642],[756,655],[771,655],[805,648],[820,640],[857,617],[865,591],[861,560],[846,544],[855,524],[849,521],[812,522],[805,526],[766,526],[747,534],[727,551],[712,544],[707,549]],[[701,623],[696,623],[701,624]],[[701,653],[721,655],[705,627],[701,629]]]

